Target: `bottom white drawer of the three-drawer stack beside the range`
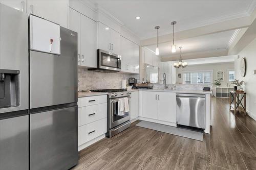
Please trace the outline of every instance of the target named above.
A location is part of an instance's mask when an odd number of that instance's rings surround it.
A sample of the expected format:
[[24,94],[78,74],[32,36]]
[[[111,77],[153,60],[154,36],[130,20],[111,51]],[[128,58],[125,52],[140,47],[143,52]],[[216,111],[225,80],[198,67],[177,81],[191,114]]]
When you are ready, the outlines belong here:
[[106,118],[78,127],[78,145],[106,133]]

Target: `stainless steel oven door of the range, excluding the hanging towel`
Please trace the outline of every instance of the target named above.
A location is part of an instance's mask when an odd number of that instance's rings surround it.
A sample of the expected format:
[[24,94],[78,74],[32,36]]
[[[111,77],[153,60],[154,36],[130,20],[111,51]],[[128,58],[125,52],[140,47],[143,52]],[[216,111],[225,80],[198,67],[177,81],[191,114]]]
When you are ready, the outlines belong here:
[[120,114],[118,108],[119,99],[111,99],[110,100],[110,129],[130,120],[130,111],[131,111],[131,97],[127,96],[129,103],[129,112],[124,112],[124,114]]

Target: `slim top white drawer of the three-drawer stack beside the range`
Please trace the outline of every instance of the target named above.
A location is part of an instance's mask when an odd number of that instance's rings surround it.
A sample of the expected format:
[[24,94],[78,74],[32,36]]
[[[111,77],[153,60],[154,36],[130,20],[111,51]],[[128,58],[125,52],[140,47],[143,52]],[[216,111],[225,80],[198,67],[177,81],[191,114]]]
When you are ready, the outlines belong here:
[[78,107],[97,105],[106,103],[106,95],[96,95],[84,98],[78,98]]

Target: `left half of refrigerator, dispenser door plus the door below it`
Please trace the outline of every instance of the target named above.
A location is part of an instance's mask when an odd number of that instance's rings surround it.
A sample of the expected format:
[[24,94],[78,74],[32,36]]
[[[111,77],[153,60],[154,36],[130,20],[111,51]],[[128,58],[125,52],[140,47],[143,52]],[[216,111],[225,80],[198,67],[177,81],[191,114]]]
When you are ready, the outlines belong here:
[[29,169],[28,16],[0,3],[0,169]]

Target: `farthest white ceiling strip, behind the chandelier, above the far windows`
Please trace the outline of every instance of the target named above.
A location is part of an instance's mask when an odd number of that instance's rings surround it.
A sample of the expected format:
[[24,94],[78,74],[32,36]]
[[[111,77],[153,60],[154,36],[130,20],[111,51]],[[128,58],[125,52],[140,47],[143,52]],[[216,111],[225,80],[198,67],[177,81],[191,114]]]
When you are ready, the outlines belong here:
[[188,60],[183,60],[183,61],[187,62],[189,65],[226,63],[226,62],[234,62],[234,57],[235,56],[221,56],[221,57],[188,59]]

